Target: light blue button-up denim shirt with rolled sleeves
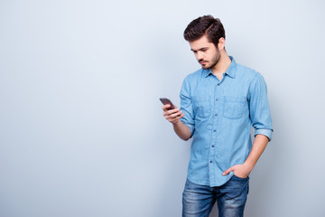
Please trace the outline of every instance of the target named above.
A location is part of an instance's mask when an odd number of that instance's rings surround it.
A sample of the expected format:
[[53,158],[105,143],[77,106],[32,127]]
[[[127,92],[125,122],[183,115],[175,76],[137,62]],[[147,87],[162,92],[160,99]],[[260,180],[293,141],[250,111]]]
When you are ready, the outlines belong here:
[[273,127],[262,75],[239,65],[232,58],[222,80],[212,71],[200,69],[189,74],[181,86],[181,122],[193,137],[188,179],[195,184],[220,186],[233,172],[222,175],[232,165],[243,164],[255,136],[272,138]]

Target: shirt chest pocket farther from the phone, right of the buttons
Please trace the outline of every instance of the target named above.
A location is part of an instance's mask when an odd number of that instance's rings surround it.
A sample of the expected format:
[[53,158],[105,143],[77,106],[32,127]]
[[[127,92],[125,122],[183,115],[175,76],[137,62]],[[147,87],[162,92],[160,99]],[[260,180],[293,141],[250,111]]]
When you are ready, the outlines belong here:
[[247,106],[246,97],[224,97],[223,116],[225,118],[241,118]]

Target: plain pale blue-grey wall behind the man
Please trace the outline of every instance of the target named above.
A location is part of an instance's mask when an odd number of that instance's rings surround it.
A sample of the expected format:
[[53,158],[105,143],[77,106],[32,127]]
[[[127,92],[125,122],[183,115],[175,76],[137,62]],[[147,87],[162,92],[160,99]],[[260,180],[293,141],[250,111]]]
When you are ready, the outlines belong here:
[[190,141],[159,98],[179,105],[200,68],[182,33],[203,14],[220,18],[228,54],[268,87],[274,139],[246,216],[323,216],[324,8],[0,0],[0,216],[181,216]]

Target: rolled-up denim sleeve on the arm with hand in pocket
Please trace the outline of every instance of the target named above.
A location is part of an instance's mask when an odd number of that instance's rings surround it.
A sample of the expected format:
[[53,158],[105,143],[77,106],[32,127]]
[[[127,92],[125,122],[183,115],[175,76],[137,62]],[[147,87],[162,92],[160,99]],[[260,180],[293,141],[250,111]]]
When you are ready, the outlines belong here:
[[263,76],[255,75],[249,87],[249,115],[255,134],[262,134],[271,141],[273,135],[271,112],[267,99],[267,88]]

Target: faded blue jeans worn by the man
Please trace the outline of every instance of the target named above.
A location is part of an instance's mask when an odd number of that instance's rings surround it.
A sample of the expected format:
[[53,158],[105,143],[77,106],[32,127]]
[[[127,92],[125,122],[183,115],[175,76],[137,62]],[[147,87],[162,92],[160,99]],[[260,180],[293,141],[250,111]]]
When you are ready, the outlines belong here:
[[182,217],[208,217],[214,203],[218,203],[218,217],[240,217],[244,215],[249,177],[233,175],[221,186],[193,184],[187,179],[182,194]]

